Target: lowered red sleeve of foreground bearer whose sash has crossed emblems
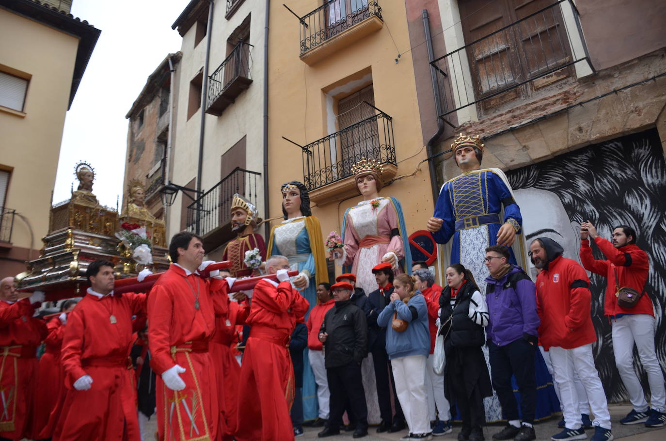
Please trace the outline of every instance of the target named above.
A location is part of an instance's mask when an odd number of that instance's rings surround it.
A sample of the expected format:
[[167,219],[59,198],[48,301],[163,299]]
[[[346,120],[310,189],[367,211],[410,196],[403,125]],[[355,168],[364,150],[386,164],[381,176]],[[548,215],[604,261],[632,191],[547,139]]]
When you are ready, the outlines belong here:
[[152,355],[151,367],[156,374],[174,366],[169,344],[172,315],[173,300],[168,290],[165,286],[153,286],[148,298],[148,344]]

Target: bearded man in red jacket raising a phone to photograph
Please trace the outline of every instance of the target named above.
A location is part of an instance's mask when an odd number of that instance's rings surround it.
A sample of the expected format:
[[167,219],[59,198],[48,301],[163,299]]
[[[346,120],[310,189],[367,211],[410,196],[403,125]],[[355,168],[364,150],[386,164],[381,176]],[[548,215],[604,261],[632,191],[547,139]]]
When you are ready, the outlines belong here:
[[[608,260],[593,258],[589,243],[591,241],[594,241]],[[647,253],[636,244],[636,232],[631,226],[619,225],[613,228],[611,244],[599,237],[597,228],[587,220],[581,224],[581,262],[586,270],[608,280],[603,311],[613,326],[615,365],[633,406],[631,412],[620,422],[621,424],[645,422],[645,427],[661,427],[666,423],[664,413],[666,391],[655,351],[654,309],[650,296],[645,292],[645,283],[650,271]],[[617,303],[615,293],[620,286],[628,286],[641,293],[633,308],[623,308]],[[647,405],[641,382],[633,370],[634,344],[641,357],[641,364],[647,372],[652,408]]]

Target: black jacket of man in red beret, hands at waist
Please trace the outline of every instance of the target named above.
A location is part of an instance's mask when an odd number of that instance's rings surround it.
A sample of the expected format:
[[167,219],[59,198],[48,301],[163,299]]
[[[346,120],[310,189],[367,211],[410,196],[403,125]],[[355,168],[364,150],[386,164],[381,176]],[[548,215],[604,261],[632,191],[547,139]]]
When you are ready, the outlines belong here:
[[328,334],[324,342],[326,368],[360,363],[368,355],[366,314],[351,300],[335,302],[326,312],[320,332]]

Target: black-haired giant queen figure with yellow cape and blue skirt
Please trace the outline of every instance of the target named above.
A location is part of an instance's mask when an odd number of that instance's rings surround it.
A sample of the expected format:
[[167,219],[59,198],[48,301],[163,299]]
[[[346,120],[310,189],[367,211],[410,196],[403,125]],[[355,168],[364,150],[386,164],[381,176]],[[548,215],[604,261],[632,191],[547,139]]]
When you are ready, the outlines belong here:
[[[268,257],[282,255],[288,258],[291,270],[298,270],[292,284],[310,302],[317,304],[317,285],[328,282],[324,238],[319,219],[310,211],[308,189],[298,181],[282,184],[282,215],[284,220],[273,227],[268,238]],[[307,320],[310,311],[306,314]],[[314,373],[308,362],[308,348],[303,354],[303,417],[317,417],[317,394]]]

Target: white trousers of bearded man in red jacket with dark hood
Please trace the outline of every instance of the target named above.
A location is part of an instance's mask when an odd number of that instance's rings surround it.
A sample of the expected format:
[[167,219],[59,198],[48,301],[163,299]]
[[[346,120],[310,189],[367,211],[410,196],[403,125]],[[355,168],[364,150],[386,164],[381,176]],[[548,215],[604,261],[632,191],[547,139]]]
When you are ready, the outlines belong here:
[[561,396],[562,413],[567,428],[578,429],[583,425],[579,410],[578,392],[574,386],[574,372],[578,374],[585,390],[589,406],[594,414],[593,424],[605,429],[611,428],[611,415],[608,412],[606,394],[601,386],[599,372],[594,366],[592,344],[573,349],[553,346],[549,349],[553,363],[553,375]]

